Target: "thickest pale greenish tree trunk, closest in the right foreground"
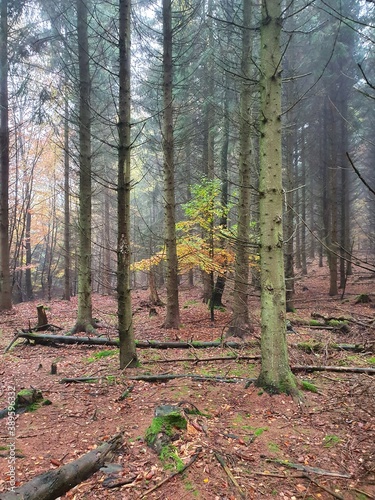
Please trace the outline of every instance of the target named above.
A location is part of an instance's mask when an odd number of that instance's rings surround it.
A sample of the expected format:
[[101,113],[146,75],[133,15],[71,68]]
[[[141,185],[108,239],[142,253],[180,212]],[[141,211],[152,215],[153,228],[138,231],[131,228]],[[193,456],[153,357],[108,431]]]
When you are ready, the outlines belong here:
[[257,385],[297,395],[288,360],[283,254],[281,0],[262,0],[260,48],[261,355]]

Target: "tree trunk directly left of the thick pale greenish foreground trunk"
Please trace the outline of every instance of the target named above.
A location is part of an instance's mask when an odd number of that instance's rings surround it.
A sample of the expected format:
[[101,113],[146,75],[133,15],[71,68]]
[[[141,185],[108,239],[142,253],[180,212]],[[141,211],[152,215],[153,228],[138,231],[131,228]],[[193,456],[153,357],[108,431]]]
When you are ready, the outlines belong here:
[[252,112],[251,112],[251,57],[252,32],[251,2],[243,0],[243,30],[241,58],[240,94],[240,158],[239,158],[239,200],[236,238],[236,257],[233,290],[233,316],[228,335],[243,337],[252,331],[250,323],[249,294],[249,255],[250,255],[250,200],[251,200],[251,154],[252,154]]

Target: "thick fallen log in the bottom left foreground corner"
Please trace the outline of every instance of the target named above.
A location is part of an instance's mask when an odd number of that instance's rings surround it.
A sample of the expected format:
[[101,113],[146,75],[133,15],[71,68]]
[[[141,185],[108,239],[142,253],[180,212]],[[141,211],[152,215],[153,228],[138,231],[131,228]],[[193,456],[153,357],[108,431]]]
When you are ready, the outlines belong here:
[[111,453],[122,444],[123,434],[113,436],[95,450],[55,470],[35,477],[8,493],[0,493],[0,500],[54,500],[77,484],[85,481],[108,461]]

